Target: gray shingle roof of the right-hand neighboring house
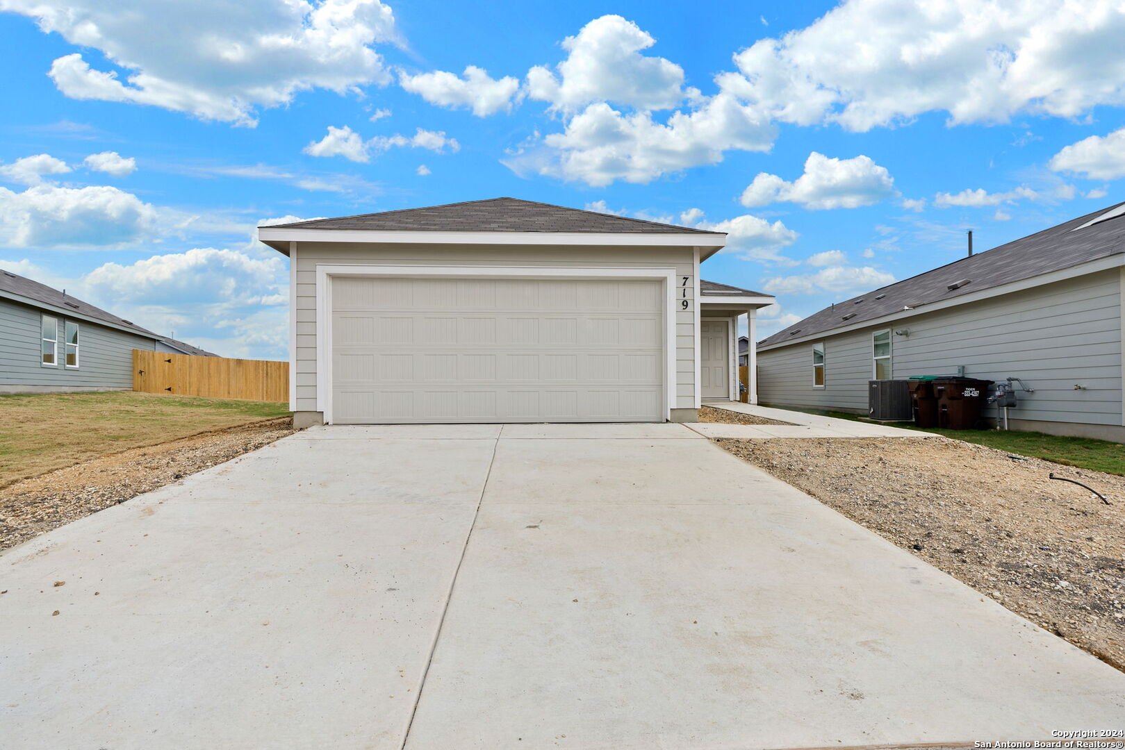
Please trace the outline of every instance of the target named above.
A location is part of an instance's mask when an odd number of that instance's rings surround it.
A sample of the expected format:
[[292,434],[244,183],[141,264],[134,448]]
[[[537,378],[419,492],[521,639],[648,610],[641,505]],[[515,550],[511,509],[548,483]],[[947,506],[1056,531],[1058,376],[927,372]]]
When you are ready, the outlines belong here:
[[[971,257],[962,257],[933,271],[837,302],[763,338],[758,346],[825,333],[898,313],[907,307],[953,299],[1123,253],[1125,217],[1077,228],[1120,205],[1123,204],[1092,211]],[[919,311],[924,313],[925,308]],[[844,319],[845,315],[852,314],[854,316]]]

